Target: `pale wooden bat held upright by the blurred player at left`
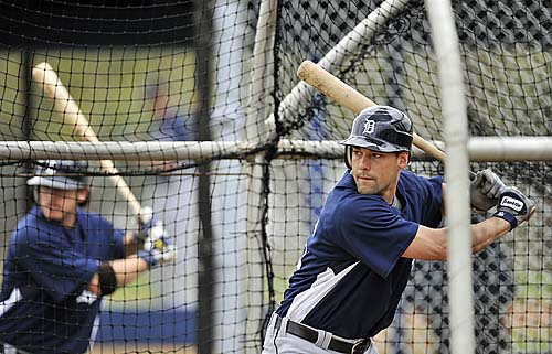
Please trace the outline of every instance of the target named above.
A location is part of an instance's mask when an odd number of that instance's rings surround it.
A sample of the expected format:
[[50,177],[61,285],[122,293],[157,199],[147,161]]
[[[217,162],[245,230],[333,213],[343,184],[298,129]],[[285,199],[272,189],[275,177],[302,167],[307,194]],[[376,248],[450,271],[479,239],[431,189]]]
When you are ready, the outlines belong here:
[[[32,77],[42,86],[44,95],[52,98],[55,109],[62,114],[64,124],[73,127],[74,135],[81,140],[99,141],[81,108],[50,64],[44,62],[34,66]],[[141,219],[144,216],[141,205],[125,180],[118,174],[119,171],[115,168],[113,161],[100,160],[99,164],[104,171],[109,173],[108,178],[115,184],[119,194],[127,201],[130,211]]]

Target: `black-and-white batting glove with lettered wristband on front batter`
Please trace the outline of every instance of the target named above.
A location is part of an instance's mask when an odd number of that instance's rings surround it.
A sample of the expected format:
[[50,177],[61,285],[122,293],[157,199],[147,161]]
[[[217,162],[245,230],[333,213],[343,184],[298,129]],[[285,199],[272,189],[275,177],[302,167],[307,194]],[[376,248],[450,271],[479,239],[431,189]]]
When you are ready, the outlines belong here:
[[521,225],[533,216],[537,207],[534,201],[527,197],[516,187],[507,187],[498,199],[495,217],[500,217],[510,223],[510,230]]

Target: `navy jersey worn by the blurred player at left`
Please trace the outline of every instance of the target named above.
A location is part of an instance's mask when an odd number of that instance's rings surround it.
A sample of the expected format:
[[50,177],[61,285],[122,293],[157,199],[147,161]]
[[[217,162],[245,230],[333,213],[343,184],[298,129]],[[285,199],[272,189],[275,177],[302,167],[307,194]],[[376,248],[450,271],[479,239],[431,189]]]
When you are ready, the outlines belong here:
[[[86,290],[99,261],[123,258],[124,233],[77,210],[74,228],[36,206],[11,237],[0,292],[0,342],[31,353],[84,353],[100,299]],[[96,322],[96,323],[95,323]]]

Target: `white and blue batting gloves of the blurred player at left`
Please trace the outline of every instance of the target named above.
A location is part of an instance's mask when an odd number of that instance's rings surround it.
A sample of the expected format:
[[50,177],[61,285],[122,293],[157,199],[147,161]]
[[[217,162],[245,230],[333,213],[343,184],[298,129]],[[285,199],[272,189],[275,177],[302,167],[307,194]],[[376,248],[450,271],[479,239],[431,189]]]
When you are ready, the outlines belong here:
[[138,257],[144,258],[149,267],[174,260],[177,249],[170,242],[163,224],[153,216],[150,207],[142,210],[140,222],[144,249],[138,251]]

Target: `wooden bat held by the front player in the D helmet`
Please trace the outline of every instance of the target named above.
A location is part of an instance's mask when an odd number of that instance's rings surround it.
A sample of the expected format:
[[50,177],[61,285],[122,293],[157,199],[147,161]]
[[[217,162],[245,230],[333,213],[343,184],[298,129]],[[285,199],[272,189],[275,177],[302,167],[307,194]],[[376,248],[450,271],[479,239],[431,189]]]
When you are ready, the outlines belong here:
[[[367,107],[375,106],[375,103],[365,97],[338,77],[325,71],[311,61],[305,61],[297,69],[297,76],[307,84],[316,87],[326,96],[343,107],[351,109],[355,115]],[[414,132],[412,143],[431,157],[445,162],[445,153],[437,147],[421,138]]]

